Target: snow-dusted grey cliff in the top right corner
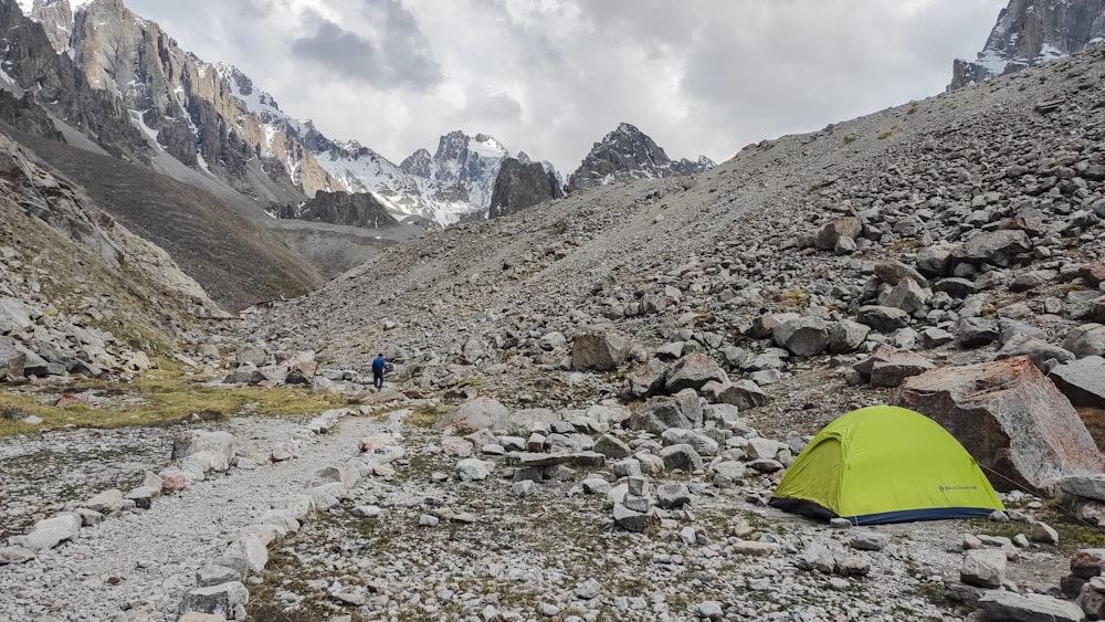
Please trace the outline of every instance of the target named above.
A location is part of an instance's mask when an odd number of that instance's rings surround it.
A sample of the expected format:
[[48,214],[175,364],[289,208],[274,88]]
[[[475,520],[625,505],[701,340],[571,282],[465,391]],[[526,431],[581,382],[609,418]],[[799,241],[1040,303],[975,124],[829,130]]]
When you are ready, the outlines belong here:
[[956,59],[949,88],[1080,52],[1105,38],[1103,0],[1010,0],[978,60]]

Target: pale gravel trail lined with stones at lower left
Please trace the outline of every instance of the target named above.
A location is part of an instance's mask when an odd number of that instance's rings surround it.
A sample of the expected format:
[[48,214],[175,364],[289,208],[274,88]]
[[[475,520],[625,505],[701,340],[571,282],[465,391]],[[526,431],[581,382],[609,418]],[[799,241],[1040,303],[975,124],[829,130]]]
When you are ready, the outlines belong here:
[[[290,420],[262,419],[225,428],[239,446],[270,447],[298,429]],[[199,568],[274,503],[302,491],[316,470],[356,455],[357,440],[381,428],[371,419],[344,417],[329,433],[303,442],[293,460],[215,474],[156,499],[148,510],[123,510],[85,527],[74,541],[36,559],[0,566],[0,593],[9,594],[0,599],[0,619],[177,620]],[[171,439],[166,458],[170,450]]]

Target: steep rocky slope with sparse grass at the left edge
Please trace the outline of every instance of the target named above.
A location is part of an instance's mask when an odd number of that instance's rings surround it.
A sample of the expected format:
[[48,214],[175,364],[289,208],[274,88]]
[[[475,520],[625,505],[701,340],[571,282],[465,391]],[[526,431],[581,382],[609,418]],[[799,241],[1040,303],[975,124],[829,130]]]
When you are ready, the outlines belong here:
[[[219,306],[168,254],[0,134],[0,371],[133,373]],[[15,367],[12,367],[14,365]]]

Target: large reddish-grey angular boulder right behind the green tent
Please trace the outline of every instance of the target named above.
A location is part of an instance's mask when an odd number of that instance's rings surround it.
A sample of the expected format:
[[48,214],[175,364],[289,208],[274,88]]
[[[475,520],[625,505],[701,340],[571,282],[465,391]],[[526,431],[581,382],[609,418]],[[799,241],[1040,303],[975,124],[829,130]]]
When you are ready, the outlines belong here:
[[1105,466],[1071,402],[1028,357],[907,378],[892,403],[943,425],[1001,491],[1046,489]]

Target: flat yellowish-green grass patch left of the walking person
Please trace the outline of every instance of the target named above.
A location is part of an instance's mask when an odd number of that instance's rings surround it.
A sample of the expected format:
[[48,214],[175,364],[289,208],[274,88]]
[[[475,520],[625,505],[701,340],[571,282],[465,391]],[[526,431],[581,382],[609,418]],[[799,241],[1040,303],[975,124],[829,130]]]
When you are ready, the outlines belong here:
[[[4,390],[0,391],[0,403],[6,411],[42,418],[46,429],[169,425],[194,417],[309,414],[343,405],[339,396],[315,396],[305,388],[207,387],[190,380],[172,363],[145,371],[127,383],[81,380],[63,389],[88,396],[87,405],[57,408],[56,391],[49,386]],[[0,418],[0,436],[35,430],[39,428]]]

